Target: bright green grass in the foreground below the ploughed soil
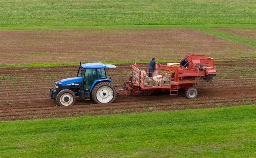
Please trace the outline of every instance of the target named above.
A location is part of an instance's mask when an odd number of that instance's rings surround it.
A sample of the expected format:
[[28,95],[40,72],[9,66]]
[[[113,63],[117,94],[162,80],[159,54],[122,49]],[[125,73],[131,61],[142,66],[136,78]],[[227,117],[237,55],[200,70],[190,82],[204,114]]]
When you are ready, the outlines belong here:
[[253,157],[256,106],[2,121],[1,157]]

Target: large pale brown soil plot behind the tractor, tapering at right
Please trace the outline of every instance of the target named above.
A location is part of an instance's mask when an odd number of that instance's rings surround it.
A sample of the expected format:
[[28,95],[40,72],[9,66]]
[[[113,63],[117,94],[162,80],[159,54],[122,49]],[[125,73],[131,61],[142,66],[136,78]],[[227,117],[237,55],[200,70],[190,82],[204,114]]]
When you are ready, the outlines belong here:
[[250,56],[252,48],[189,29],[0,31],[0,64]]

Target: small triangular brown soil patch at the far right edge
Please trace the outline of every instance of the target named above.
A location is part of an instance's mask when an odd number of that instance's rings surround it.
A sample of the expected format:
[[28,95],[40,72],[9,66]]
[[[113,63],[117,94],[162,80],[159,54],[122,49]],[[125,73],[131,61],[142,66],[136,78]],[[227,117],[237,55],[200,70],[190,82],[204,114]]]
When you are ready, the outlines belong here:
[[237,28],[237,29],[217,29],[234,35],[240,35],[247,38],[256,39],[256,28]]

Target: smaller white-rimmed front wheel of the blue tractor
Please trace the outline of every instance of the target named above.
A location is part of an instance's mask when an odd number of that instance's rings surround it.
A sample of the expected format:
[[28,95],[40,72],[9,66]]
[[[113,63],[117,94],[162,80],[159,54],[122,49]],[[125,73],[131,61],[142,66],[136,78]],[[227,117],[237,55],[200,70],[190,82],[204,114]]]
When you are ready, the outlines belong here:
[[76,102],[76,95],[71,90],[62,90],[58,93],[56,101],[60,106],[72,106]]

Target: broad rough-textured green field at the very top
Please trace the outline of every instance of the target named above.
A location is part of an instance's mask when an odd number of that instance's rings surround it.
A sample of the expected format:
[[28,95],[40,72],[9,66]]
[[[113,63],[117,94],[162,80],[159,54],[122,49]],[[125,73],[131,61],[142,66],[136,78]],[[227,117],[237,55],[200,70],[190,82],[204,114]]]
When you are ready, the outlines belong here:
[[254,0],[2,0],[0,26],[255,23]]

